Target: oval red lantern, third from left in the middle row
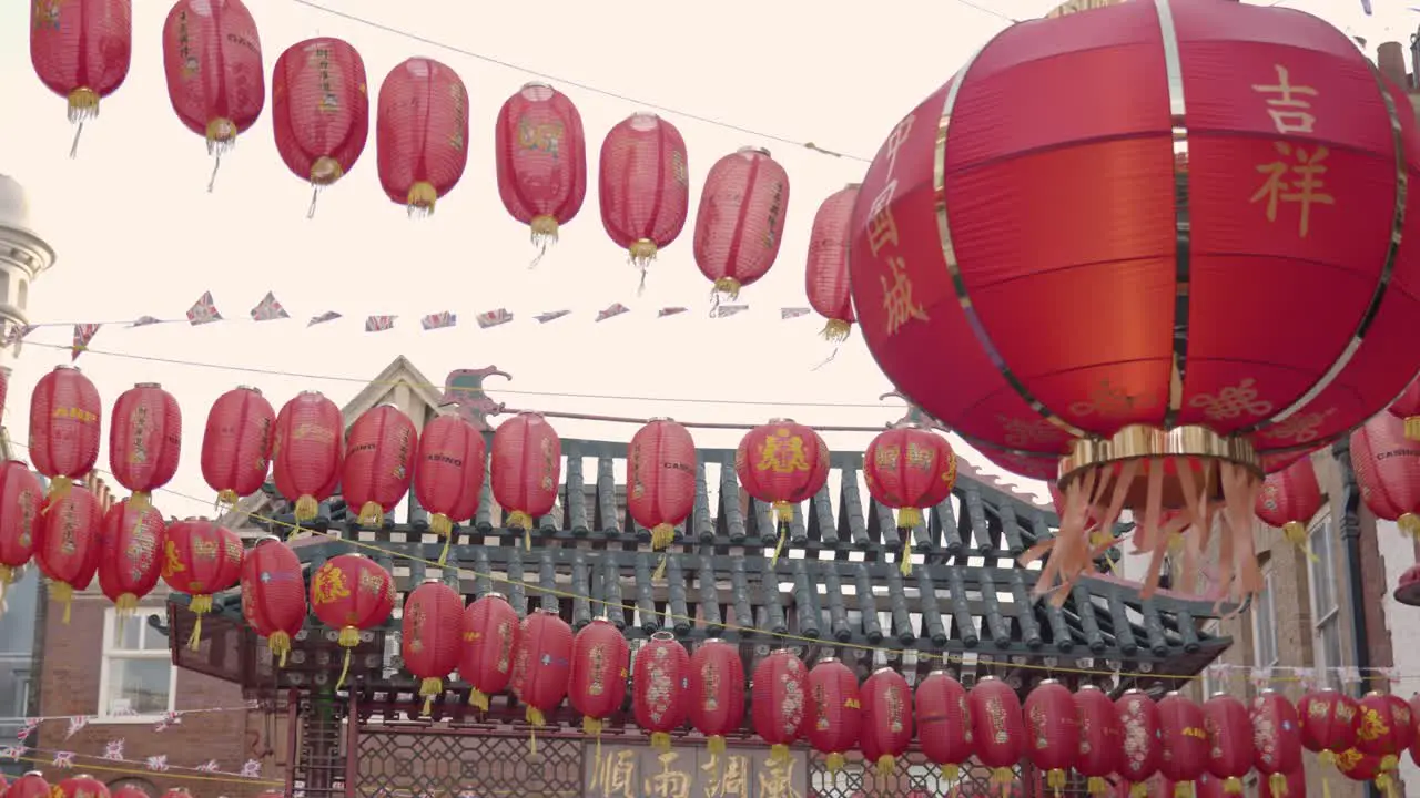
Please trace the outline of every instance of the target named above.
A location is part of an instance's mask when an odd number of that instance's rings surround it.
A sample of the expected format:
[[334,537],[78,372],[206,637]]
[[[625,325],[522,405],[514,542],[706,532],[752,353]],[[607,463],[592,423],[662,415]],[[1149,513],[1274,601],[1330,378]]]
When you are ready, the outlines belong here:
[[237,386],[213,402],[202,433],[202,479],[219,503],[236,507],[266,484],[274,427],[275,412],[256,388]]

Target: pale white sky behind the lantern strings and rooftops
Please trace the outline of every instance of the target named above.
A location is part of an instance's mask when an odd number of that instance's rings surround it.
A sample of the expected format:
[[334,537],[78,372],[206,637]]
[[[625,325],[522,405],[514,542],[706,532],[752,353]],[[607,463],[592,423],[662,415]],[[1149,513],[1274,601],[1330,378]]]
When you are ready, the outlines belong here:
[[[314,1],[314,0],[312,0]],[[1268,3],[1264,4],[1269,4]],[[297,0],[247,0],[261,33],[267,75],[288,45],[334,35],[352,43],[369,75],[371,99],[385,74],[405,58],[426,55],[453,67],[471,101],[471,148],[462,183],[423,222],[386,200],[375,172],[375,138],[355,169],[321,196],[305,219],[310,187],[281,163],[270,108],[223,162],[217,190],[206,192],[210,159],[200,138],[175,116],[166,97],[159,37],[169,3],[133,3],[133,64],[128,82],[104,101],[88,125],[77,160],[64,99],[34,77],[28,60],[28,3],[0,6],[0,108],[7,132],[0,172],[31,195],[34,226],[58,251],[58,264],[30,291],[33,322],[175,318],[212,291],[231,322],[199,328],[106,327],[97,351],[207,364],[373,378],[396,355],[409,356],[432,381],[453,368],[497,365],[514,375],[508,389],[608,393],[655,400],[595,400],[493,395],[510,406],[682,420],[758,422],[791,416],[811,425],[882,425],[897,408],[873,408],[889,390],[856,335],[838,358],[811,371],[831,348],[816,315],[781,322],[780,307],[807,305],[804,254],[818,203],[861,179],[866,165],[832,159],[711,124],[665,114],[686,138],[692,209],[710,165],[738,146],[767,146],[790,173],[784,246],[774,270],[747,288],[751,311],[710,319],[709,284],[690,253],[693,220],[653,267],[643,297],[625,253],[602,230],[596,207],[596,152],[606,131],[645,104],[672,106],[795,142],[872,156],[883,136],[923,97],[1008,18],[1041,16],[1049,0],[895,0],[883,6],[832,1],[720,0],[680,7],[622,0],[544,0],[534,7],[466,0],[328,0],[331,7],[456,50],[511,61],[642,102],[613,99],[551,81],[582,114],[592,186],[558,247],[530,271],[527,230],[504,212],[494,185],[493,121],[503,101],[534,75],[443,47],[386,33]],[[1409,43],[1420,14],[1404,0],[1292,0],[1288,6],[1366,35]],[[976,7],[973,7],[976,6]],[[988,11],[990,10],[990,11]],[[270,94],[270,87],[268,87]],[[268,291],[293,318],[253,324],[247,311]],[[632,314],[594,324],[595,312],[623,302]],[[692,311],[657,319],[663,305]],[[517,321],[479,329],[474,315],[507,307]],[[572,308],[540,325],[537,312]],[[337,310],[345,318],[305,328],[310,317]],[[454,311],[459,327],[422,332],[423,314]],[[365,334],[369,314],[398,314],[395,331]],[[33,342],[67,344],[71,329],[45,328]],[[68,354],[26,346],[13,364],[7,425],[27,437],[34,381]],[[160,382],[185,412],[185,457],[175,490],[207,497],[197,467],[202,423],[223,390],[256,385],[274,405],[302,389],[344,403],[358,382],[243,375],[85,354],[78,364],[98,385],[105,410],[133,382]],[[673,399],[863,406],[733,406]],[[105,442],[106,442],[105,419]],[[565,437],[625,440],[635,427],[554,422]],[[696,432],[701,446],[730,447],[740,433]],[[866,444],[866,434],[829,434],[834,449]],[[957,442],[960,444],[960,442]],[[970,453],[967,454],[971,459]],[[980,459],[973,461],[981,466]],[[99,467],[106,469],[108,454]],[[993,470],[993,469],[984,469]],[[1038,488],[1039,486],[1031,486]],[[118,486],[115,486],[118,488]],[[185,515],[210,504],[170,494],[156,498]]]

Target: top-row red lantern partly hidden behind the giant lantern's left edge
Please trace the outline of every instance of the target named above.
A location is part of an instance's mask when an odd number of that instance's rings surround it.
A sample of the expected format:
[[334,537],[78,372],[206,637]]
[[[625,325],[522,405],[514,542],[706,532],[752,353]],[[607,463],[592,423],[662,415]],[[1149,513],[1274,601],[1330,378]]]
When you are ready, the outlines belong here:
[[818,206],[808,239],[804,291],[814,312],[828,319],[824,338],[848,341],[858,317],[848,284],[848,250],[853,246],[852,216],[858,183],[839,189]]

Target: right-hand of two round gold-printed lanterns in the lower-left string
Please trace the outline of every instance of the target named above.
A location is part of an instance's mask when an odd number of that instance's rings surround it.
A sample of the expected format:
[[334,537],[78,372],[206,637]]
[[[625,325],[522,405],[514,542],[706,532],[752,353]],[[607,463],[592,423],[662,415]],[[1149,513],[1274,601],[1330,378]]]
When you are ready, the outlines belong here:
[[395,581],[373,559],[358,554],[341,554],[325,561],[311,575],[311,611],[321,623],[337,629],[337,642],[345,649],[339,690],[351,670],[351,650],[359,646],[359,635],[373,629],[395,611]]

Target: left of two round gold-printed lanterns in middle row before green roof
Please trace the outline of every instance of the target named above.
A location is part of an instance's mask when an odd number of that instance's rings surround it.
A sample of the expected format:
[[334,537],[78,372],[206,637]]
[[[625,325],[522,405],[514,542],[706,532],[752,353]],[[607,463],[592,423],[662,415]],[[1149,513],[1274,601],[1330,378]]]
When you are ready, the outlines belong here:
[[792,419],[772,419],[740,439],[734,473],[750,496],[774,507],[780,535],[770,565],[784,552],[794,507],[828,483],[828,444]]

